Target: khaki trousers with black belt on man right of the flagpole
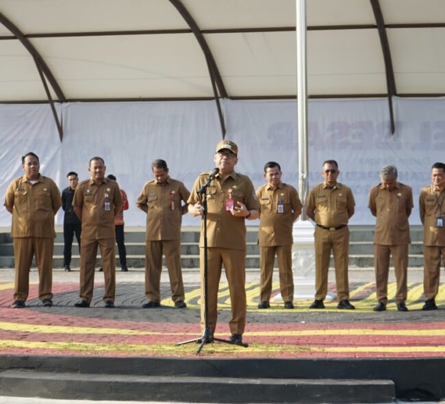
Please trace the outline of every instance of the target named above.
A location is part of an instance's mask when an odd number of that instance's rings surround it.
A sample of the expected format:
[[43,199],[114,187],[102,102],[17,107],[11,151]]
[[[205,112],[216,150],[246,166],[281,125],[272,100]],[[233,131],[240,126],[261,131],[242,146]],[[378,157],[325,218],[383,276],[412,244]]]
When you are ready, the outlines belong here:
[[329,231],[315,228],[315,288],[316,300],[325,300],[329,259],[333,251],[335,264],[335,283],[337,284],[338,301],[349,299],[348,260],[349,229]]

